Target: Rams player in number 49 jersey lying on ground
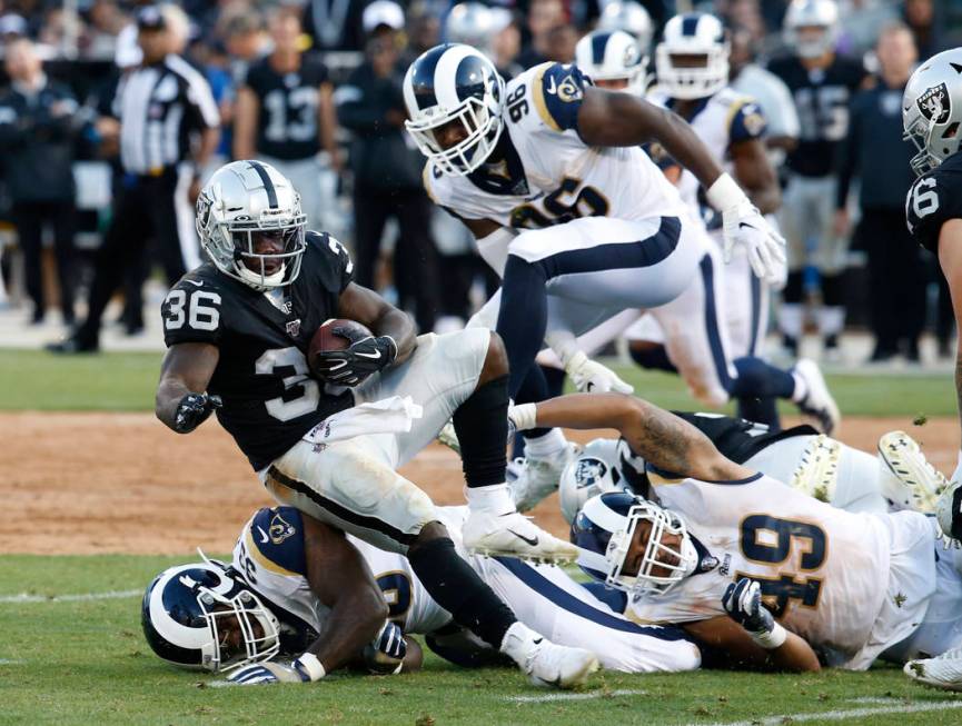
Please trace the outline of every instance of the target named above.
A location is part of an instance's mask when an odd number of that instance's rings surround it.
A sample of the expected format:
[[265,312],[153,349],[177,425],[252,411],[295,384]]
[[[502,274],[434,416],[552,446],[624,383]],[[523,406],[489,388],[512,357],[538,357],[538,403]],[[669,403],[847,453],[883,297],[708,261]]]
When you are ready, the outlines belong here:
[[638,399],[566,396],[513,418],[519,428],[615,428],[645,459],[661,506],[606,494],[572,526],[593,553],[579,564],[629,593],[639,621],[681,624],[732,664],[784,669],[863,669],[962,642],[962,553],[940,546],[936,561],[932,518],[836,509],[735,464]]

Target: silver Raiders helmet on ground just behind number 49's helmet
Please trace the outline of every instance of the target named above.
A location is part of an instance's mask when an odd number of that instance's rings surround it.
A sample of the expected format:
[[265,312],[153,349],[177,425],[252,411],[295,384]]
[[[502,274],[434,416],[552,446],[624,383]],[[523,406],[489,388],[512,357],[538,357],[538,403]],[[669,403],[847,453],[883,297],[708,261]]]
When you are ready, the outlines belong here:
[[565,521],[572,524],[585,501],[606,491],[639,494],[645,461],[624,439],[594,439],[562,471],[558,499]]

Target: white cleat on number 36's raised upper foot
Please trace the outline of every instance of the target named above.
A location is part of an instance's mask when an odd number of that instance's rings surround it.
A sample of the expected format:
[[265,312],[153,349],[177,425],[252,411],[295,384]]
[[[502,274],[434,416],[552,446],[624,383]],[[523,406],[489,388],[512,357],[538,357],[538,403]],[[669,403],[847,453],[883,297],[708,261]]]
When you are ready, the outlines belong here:
[[535,526],[517,511],[497,515],[468,508],[462,528],[465,548],[487,557],[519,557],[542,563],[573,561],[578,548]]

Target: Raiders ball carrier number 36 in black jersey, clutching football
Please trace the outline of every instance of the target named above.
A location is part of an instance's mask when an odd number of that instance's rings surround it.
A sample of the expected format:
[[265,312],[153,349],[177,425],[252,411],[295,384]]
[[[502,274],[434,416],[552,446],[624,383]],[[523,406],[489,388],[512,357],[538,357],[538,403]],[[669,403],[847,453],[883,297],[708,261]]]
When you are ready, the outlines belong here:
[[[572,545],[515,511],[504,484],[507,357],[498,337],[474,329],[416,338],[408,316],[351,281],[336,239],[305,231],[297,191],[262,162],[235,161],[211,177],[197,231],[209,261],[161,308],[169,350],[158,418],[188,434],[217,410],[278,501],[405,553],[456,621],[558,685],[582,683],[597,667],[594,655],[518,623],[457,555],[427,495],[396,473],[453,416],[470,505],[466,548],[572,556]],[[314,331],[333,318],[373,334],[335,329],[350,346],[309,366]]]

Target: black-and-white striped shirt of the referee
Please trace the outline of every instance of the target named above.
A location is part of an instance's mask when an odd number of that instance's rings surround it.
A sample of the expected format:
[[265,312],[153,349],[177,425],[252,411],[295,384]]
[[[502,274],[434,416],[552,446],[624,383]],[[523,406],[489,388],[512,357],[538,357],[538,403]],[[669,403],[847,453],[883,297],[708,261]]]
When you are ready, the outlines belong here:
[[120,161],[136,175],[157,175],[188,159],[191,133],[220,126],[207,80],[172,54],[125,76],[112,112],[120,120]]

